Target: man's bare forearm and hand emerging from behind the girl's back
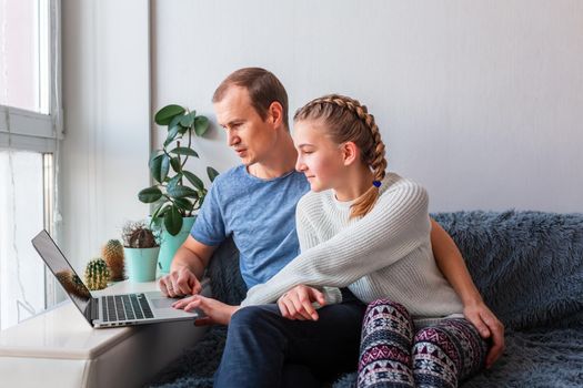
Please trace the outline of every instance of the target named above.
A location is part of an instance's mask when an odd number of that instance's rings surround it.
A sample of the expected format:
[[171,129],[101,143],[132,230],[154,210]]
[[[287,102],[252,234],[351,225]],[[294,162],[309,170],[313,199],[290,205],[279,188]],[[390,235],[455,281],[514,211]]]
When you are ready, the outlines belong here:
[[478,328],[482,337],[492,338],[492,348],[485,363],[490,368],[504,351],[504,326],[482,299],[455,242],[433,218],[431,246],[438,267],[462,299],[465,318]]

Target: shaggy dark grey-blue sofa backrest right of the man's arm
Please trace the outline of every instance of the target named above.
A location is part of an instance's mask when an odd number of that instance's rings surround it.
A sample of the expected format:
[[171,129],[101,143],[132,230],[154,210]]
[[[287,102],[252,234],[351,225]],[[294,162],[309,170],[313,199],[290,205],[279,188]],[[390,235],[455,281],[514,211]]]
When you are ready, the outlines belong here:
[[565,324],[583,309],[583,215],[456,212],[453,237],[486,304],[507,328]]

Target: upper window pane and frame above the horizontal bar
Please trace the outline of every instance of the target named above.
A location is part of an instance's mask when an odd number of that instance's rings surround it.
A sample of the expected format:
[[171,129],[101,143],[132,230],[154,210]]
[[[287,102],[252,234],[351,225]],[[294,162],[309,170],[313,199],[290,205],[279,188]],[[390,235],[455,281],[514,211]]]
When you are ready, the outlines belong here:
[[59,7],[0,0],[0,147],[54,151],[61,136]]

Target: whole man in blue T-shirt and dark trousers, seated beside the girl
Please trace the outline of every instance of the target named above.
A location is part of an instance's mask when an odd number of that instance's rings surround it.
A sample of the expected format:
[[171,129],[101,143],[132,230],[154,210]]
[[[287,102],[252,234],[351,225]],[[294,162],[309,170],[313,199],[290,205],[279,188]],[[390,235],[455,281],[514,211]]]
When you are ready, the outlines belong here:
[[[349,290],[343,290],[340,305],[325,306],[319,313],[306,307],[288,318],[275,305],[234,314],[239,306],[198,295],[204,267],[230,235],[240,251],[241,275],[248,288],[267,282],[293,259],[299,253],[295,204],[309,191],[304,176],[294,171],[296,151],[289,132],[288,95],[272,73],[258,68],[235,71],[217,89],[213,106],[242,165],[214,181],[191,235],[172,261],[170,274],[160,279],[160,289],[170,297],[192,295],[175,307],[201,308],[208,315],[205,324],[228,325],[232,317],[237,320],[237,333],[229,330],[218,386],[232,384],[229,379],[233,376],[239,379],[238,386],[292,384],[292,375],[301,380],[293,384],[315,386],[314,375],[330,377],[353,367],[358,359],[359,319],[365,306]],[[483,304],[451,237],[433,221],[432,226],[435,258],[464,302],[465,316],[482,336],[494,340],[486,361],[491,365],[503,350],[502,326]],[[290,293],[295,300],[325,303],[322,293],[308,286]],[[316,319],[318,325],[313,325]],[[270,353],[269,345],[275,343],[285,348],[285,355]],[[293,365],[296,360],[303,365]]]

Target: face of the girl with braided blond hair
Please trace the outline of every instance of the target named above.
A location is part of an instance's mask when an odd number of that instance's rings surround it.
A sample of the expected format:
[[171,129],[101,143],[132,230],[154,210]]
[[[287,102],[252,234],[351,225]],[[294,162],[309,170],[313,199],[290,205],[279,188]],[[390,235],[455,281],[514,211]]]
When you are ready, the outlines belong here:
[[298,121],[293,143],[298,149],[295,170],[305,174],[313,192],[338,187],[345,172],[341,146],[326,136],[319,121]]

